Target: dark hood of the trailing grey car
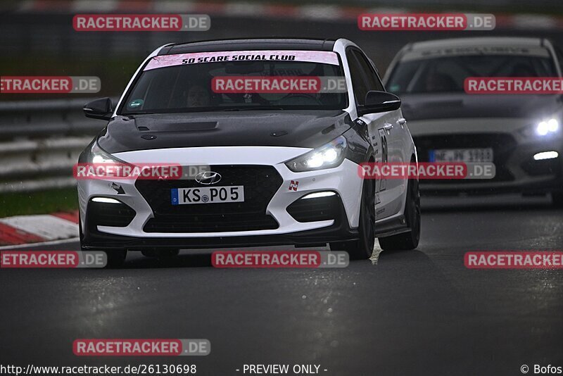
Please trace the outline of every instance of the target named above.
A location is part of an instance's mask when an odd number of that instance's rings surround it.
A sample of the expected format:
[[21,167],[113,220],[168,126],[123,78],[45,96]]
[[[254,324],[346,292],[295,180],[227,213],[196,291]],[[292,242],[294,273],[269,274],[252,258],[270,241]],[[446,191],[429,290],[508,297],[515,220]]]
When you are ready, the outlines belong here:
[[553,115],[562,107],[559,95],[403,94],[407,120],[455,118],[529,118]]

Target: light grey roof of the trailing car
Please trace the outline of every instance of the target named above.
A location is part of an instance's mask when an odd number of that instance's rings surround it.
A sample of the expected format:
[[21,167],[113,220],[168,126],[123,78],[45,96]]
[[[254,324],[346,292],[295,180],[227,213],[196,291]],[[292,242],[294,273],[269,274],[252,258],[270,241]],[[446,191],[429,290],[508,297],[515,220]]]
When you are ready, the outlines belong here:
[[419,51],[425,49],[436,48],[455,48],[455,47],[468,47],[468,46],[518,46],[518,47],[533,47],[543,46],[543,39],[541,38],[528,38],[528,37],[469,37],[469,38],[450,38],[450,39],[436,39],[424,42],[415,42],[408,46],[410,51]]

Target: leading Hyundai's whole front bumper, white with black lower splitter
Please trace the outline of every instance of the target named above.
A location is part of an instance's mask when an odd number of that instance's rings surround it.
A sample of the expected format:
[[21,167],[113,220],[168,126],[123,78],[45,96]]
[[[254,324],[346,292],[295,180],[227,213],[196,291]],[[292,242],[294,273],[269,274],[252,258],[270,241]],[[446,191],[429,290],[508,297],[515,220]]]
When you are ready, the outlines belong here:
[[[175,248],[205,248],[220,246],[249,246],[274,244],[319,244],[336,240],[355,239],[358,227],[362,179],[358,165],[345,160],[339,167],[305,173],[293,173],[285,161],[306,153],[309,149],[283,147],[202,147],[181,149],[156,149],[115,154],[129,163],[179,163],[181,165],[232,165],[270,166],[279,174],[281,184],[272,199],[263,208],[263,215],[270,215],[276,228],[267,230],[178,232],[154,229],[147,232],[147,223],[154,220],[150,203],[139,191],[135,180],[79,180],[78,193],[82,220],[82,246],[84,248],[146,248],[171,246]],[[289,189],[291,182],[298,182],[297,190]],[[173,184],[174,181],[168,183]],[[115,184],[114,184],[115,183]],[[224,182],[228,185],[228,182]],[[118,185],[122,193],[114,188]],[[217,186],[223,184],[219,183]],[[245,187],[246,190],[246,187]],[[319,220],[301,223],[286,208],[302,196],[312,192],[335,192],[341,200],[342,220]],[[146,195],[146,192],[144,192]],[[88,203],[94,197],[117,199],[132,208],[134,218],[124,227],[89,225]],[[149,200],[150,201],[150,200]],[[171,205],[171,204],[170,204]],[[205,205],[205,204],[198,204]],[[222,205],[213,203],[209,205]],[[181,205],[186,211],[192,205]],[[193,207],[193,206],[192,206]]]

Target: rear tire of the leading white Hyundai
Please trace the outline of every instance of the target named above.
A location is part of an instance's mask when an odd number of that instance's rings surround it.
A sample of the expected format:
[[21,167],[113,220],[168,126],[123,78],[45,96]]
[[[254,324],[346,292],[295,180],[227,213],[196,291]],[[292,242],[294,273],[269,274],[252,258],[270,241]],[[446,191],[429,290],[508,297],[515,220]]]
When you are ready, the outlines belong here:
[[405,202],[405,220],[410,232],[380,237],[379,246],[384,251],[398,251],[400,249],[415,249],[420,240],[420,192],[418,180],[410,179],[408,183],[407,199]]

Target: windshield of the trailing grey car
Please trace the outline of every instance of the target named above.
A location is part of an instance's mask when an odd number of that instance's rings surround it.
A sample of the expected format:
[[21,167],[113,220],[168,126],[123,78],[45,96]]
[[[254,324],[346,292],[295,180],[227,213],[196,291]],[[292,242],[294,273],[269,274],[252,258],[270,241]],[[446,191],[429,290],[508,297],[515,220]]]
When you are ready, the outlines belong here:
[[464,92],[467,77],[554,77],[548,57],[447,56],[398,63],[386,87],[396,94]]

